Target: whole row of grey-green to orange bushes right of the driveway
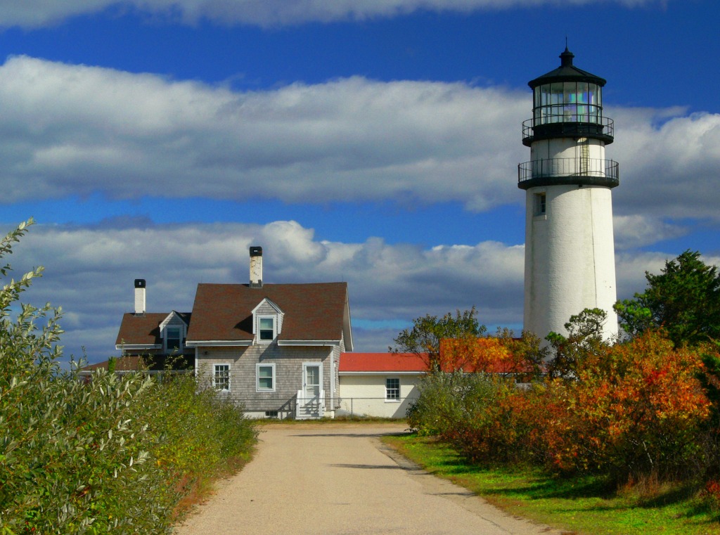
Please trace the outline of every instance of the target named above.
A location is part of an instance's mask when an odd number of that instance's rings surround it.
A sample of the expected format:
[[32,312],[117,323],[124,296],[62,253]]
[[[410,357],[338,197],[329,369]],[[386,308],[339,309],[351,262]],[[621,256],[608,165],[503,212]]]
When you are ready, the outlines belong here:
[[700,351],[675,349],[648,331],[577,360],[575,377],[527,388],[496,375],[431,374],[410,425],[438,433],[474,462],[531,462],[618,480],[686,477],[714,462],[703,446],[716,431],[702,372]]

